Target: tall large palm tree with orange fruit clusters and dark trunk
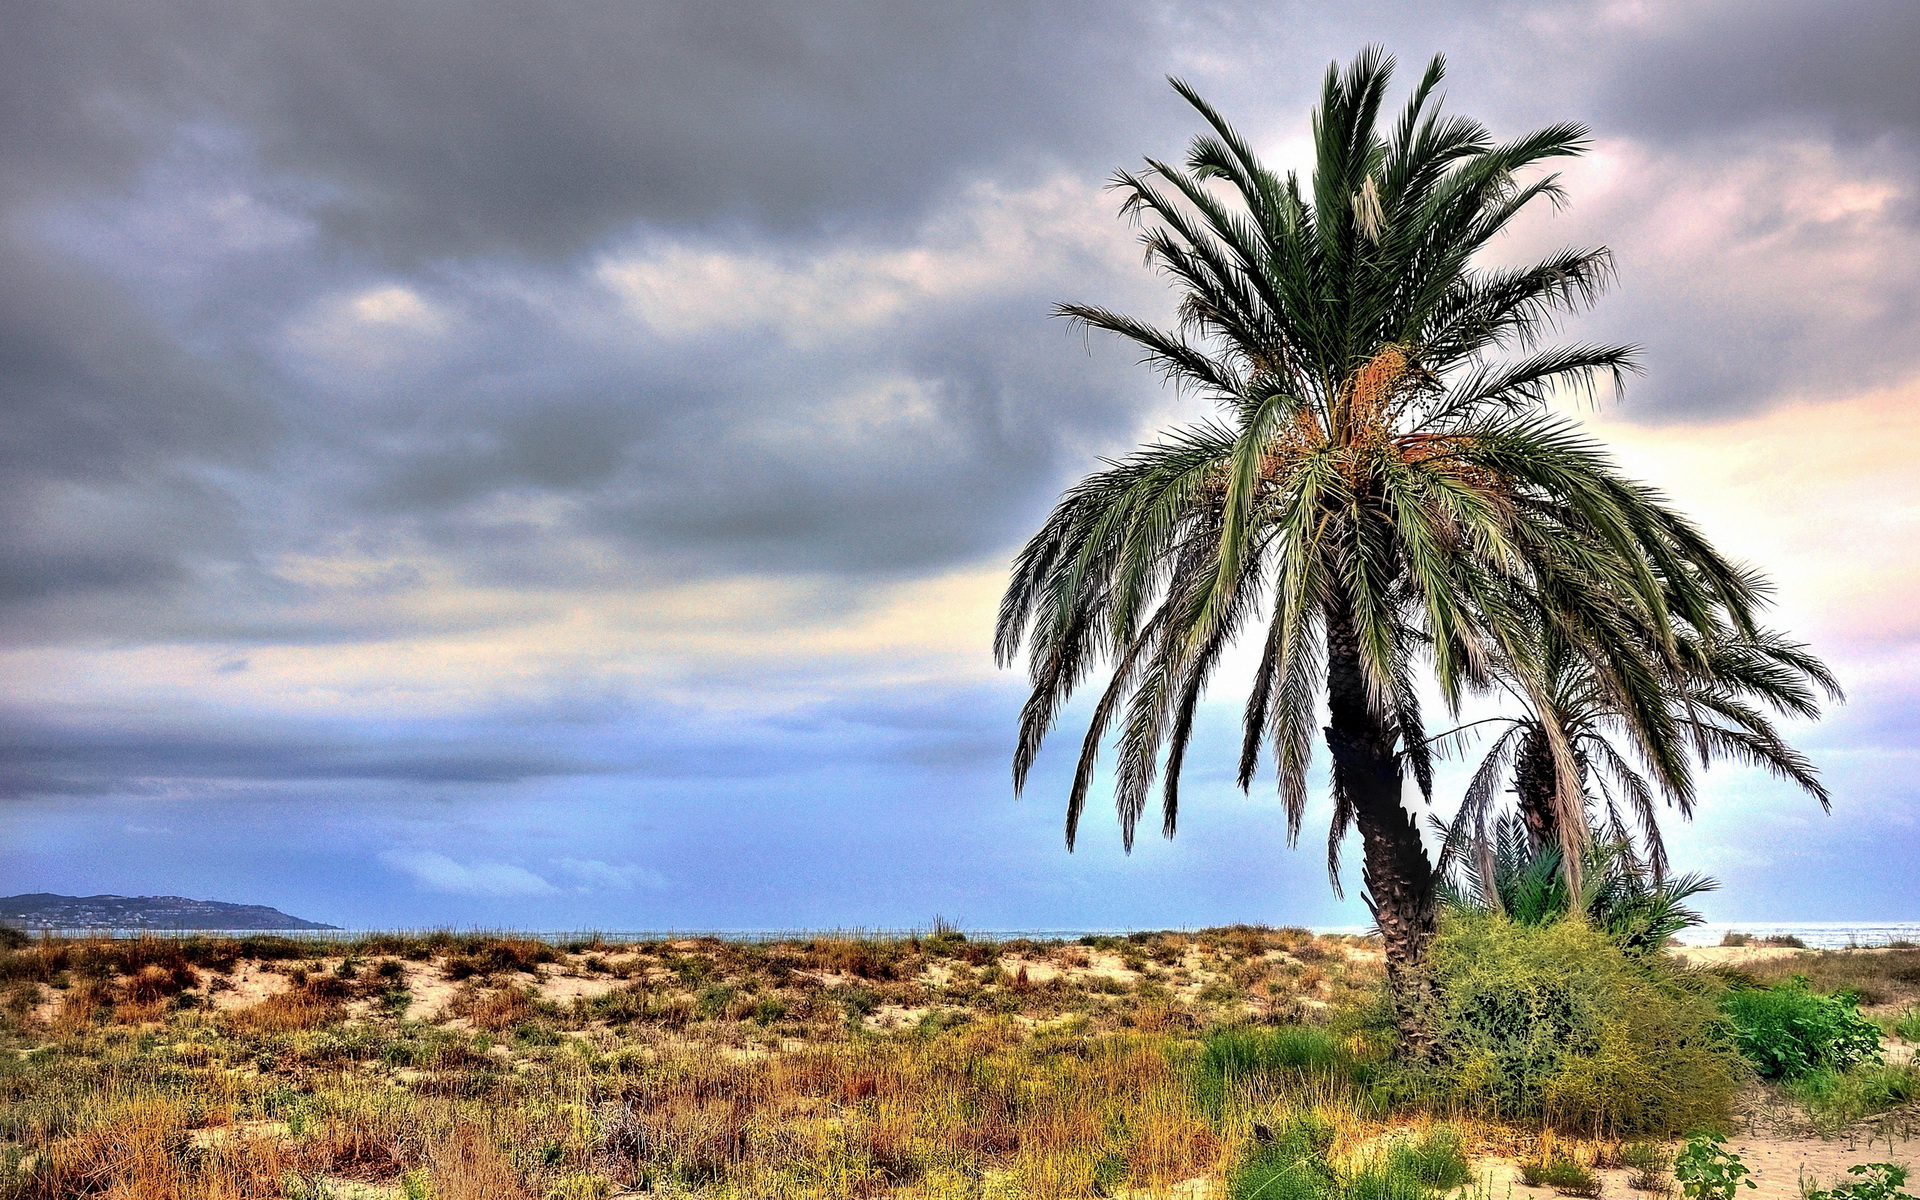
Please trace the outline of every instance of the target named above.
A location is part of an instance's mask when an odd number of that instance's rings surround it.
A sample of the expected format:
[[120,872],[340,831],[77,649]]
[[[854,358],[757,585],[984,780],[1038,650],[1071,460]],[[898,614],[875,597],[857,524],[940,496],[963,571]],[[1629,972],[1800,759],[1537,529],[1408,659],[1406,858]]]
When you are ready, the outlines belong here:
[[[1421,670],[1450,708],[1490,685],[1496,664],[1544,695],[1530,630],[1549,624],[1601,678],[1663,678],[1678,668],[1676,614],[1747,630],[1757,597],[1659,493],[1546,411],[1563,390],[1590,394],[1632,369],[1624,346],[1536,340],[1601,292],[1609,253],[1473,263],[1521,211],[1561,196],[1551,175],[1519,177],[1580,154],[1586,131],[1496,142],[1440,113],[1438,58],[1382,131],[1390,73],[1379,50],[1329,67],[1306,188],[1175,81],[1208,132],[1185,167],[1148,161],[1116,188],[1142,221],[1148,259],[1181,290],[1181,328],[1058,311],[1127,338],[1217,417],[1068,490],[1014,564],[995,651],[1010,664],[1025,643],[1033,682],[1016,789],[1079,684],[1112,666],[1081,741],[1068,845],[1117,728],[1116,808],[1131,849],[1156,778],[1173,833],[1200,693],[1236,636],[1260,628],[1240,785],[1271,743],[1298,837],[1325,693],[1329,870],[1338,887],[1338,849],[1357,829],[1365,897],[1402,981],[1434,922],[1434,866],[1402,803],[1409,772],[1430,791]],[[1663,730],[1663,712],[1642,724]],[[1551,722],[1548,739],[1571,766]],[[1582,812],[1571,783],[1557,804]]]

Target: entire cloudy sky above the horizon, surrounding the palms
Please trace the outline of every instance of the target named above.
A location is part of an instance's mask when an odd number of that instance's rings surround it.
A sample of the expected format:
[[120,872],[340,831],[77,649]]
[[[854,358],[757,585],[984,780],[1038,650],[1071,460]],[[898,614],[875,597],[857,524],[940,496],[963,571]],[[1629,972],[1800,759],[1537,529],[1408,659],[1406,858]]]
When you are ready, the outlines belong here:
[[[1106,188],[1190,81],[1582,121],[1580,409],[1778,586],[1834,791],[1716,766],[1716,920],[1920,916],[1920,6],[140,2],[0,38],[0,893],[349,927],[1359,925],[1233,787],[1062,845],[991,620],[1058,492],[1202,417],[1048,317],[1171,313]],[[1317,795],[1325,785],[1317,785]],[[1459,793],[1442,772],[1436,808]],[[1350,858],[1354,851],[1350,849]]]

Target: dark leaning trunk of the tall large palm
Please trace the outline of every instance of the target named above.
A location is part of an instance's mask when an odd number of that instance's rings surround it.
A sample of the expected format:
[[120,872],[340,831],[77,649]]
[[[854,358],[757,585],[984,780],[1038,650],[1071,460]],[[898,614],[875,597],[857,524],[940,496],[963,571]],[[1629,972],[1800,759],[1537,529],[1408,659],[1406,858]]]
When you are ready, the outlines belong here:
[[1413,812],[1400,803],[1400,730],[1367,701],[1359,639],[1342,603],[1327,612],[1327,716],[1334,793],[1348,799],[1359,828],[1361,883],[1386,945],[1400,1031],[1407,1048],[1425,1056],[1417,993],[1419,966],[1434,933],[1434,870]]

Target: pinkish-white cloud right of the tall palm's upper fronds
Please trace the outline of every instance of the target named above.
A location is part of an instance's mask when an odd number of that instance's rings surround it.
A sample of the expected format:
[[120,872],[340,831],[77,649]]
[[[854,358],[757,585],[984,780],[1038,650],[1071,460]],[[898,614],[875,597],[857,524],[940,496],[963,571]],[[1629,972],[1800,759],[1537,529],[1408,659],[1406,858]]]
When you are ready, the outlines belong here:
[[1578,332],[1645,348],[1636,420],[1728,420],[1920,371],[1920,173],[1870,150],[1751,134],[1603,140],[1565,171],[1572,211],[1503,252],[1607,244],[1620,282]]

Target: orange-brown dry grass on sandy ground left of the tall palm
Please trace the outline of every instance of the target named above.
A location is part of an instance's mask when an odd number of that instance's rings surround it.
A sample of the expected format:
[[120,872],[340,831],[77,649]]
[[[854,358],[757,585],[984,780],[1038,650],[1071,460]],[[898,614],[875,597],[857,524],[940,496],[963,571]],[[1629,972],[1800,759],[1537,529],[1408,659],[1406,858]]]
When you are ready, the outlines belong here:
[[36,941],[0,954],[0,1200],[1165,1192],[1279,1104],[1202,1112],[1192,1031],[1377,979],[1361,943],[1258,927]]

